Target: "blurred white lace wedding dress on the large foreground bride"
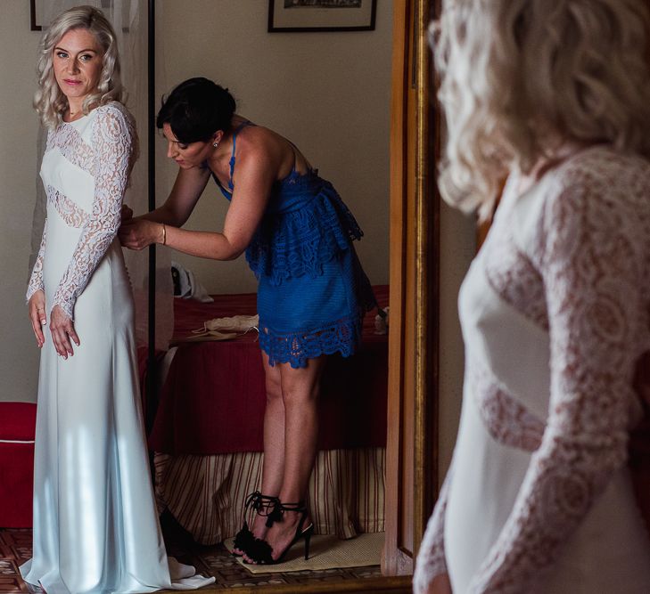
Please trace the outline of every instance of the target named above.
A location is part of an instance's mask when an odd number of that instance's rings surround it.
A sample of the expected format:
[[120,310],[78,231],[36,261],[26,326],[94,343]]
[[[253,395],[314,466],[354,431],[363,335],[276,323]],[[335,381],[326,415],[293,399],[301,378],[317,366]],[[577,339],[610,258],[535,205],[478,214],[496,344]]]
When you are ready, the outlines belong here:
[[650,349],[650,164],[598,146],[517,195],[460,294],[463,411],[414,586],[643,594],[633,378]]

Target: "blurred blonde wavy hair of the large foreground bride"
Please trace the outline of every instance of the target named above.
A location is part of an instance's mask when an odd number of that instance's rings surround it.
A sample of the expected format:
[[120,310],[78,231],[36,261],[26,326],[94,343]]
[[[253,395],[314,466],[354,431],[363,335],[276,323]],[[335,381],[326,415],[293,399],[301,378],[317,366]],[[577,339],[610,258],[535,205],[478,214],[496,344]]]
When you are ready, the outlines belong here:
[[649,30],[645,0],[444,0],[442,196],[490,216],[510,171],[565,142],[650,157]]

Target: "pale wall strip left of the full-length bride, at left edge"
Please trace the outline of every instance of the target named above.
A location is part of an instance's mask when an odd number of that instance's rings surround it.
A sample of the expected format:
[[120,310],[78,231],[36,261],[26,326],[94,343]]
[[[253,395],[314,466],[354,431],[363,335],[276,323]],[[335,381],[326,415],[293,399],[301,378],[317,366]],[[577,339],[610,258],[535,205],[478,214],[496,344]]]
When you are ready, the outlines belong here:
[[29,2],[0,5],[0,401],[36,401],[38,348],[25,306],[37,183],[36,89],[40,39]]

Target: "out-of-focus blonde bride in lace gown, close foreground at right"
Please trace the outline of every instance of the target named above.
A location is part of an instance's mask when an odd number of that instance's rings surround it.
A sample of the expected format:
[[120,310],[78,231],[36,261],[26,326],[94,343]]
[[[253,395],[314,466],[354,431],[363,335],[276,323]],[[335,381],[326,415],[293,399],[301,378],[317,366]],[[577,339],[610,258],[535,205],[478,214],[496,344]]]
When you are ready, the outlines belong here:
[[[448,0],[440,189],[490,213],[465,394],[416,592],[650,591],[627,444],[650,351],[643,0]],[[646,355],[645,355],[646,354]]]

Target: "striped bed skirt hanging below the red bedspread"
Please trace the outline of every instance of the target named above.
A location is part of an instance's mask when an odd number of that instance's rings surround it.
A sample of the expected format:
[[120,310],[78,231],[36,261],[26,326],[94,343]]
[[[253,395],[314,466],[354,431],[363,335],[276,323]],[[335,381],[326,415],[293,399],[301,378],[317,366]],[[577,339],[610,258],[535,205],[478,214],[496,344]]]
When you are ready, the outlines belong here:
[[[317,453],[307,505],[317,534],[348,539],[384,530],[385,448]],[[261,452],[211,456],[156,453],[156,500],[194,541],[215,544],[242,527],[246,495],[259,489]],[[252,515],[252,510],[251,510]],[[249,523],[251,517],[248,518]]]

